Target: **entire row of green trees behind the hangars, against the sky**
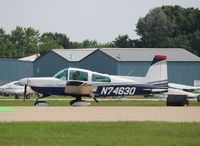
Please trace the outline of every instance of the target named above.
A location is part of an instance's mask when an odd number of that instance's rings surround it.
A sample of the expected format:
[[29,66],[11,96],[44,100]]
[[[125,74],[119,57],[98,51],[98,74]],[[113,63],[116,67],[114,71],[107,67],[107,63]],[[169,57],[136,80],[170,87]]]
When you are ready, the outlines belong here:
[[185,48],[200,56],[200,10],[180,6],[154,8],[136,24],[139,39],[127,34],[113,41],[99,43],[86,39],[70,41],[66,34],[46,32],[17,26],[10,34],[0,28],[0,57],[21,58],[51,49],[73,48]]

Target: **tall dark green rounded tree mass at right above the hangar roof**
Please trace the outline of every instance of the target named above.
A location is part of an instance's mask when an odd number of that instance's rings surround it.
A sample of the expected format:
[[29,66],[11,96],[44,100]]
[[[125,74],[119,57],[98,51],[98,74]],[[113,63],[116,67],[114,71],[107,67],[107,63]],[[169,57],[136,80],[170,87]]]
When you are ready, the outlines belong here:
[[[140,18],[136,32],[141,47],[185,48],[200,55],[200,11],[180,6],[152,9]],[[138,46],[138,43],[135,43]]]

